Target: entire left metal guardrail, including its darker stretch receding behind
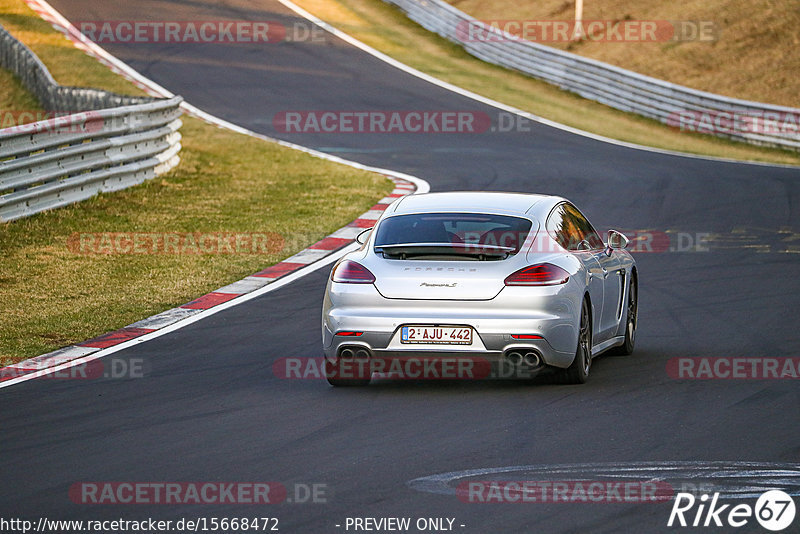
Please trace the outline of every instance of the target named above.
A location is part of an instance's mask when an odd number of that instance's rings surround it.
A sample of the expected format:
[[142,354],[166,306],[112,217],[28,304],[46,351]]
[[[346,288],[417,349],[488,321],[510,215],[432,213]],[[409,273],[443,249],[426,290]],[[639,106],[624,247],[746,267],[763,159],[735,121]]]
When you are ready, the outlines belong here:
[[2,26],[0,67],[55,112],[0,130],[0,222],[140,184],[180,162],[181,97],[61,86]]

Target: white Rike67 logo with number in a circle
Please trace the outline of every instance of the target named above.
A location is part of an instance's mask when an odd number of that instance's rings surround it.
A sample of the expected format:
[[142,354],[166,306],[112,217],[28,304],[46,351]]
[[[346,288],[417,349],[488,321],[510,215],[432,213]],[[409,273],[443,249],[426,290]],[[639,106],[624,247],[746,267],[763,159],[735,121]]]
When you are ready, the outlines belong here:
[[749,504],[718,504],[719,493],[709,501],[708,494],[696,498],[691,493],[678,493],[669,514],[667,526],[743,527],[755,517],[767,530],[780,532],[794,521],[796,509],[792,497],[780,490],[764,492],[755,507]]

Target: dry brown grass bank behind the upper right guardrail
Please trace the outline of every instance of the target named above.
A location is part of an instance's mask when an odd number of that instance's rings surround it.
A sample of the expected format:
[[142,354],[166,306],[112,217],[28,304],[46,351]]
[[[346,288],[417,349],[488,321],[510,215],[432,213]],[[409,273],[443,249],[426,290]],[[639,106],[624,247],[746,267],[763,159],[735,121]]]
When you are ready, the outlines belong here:
[[[478,19],[571,20],[574,0],[448,0]],[[584,20],[712,21],[712,42],[543,43],[726,96],[800,106],[796,0],[585,0]]]

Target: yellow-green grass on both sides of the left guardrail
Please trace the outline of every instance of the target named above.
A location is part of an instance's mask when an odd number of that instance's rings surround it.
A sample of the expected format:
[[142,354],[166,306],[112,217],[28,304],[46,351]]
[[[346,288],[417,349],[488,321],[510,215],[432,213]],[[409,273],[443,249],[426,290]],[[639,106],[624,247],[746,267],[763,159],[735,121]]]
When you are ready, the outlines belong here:
[[[21,1],[6,4],[12,13],[0,13],[0,24],[30,43],[60,83],[139,94]],[[6,80],[14,78],[0,74],[4,109],[38,107],[19,84]],[[382,176],[190,117],[184,117],[181,133],[182,161],[169,174],[0,224],[0,364],[120,328],[241,279],[347,224],[392,189]],[[256,254],[70,249],[71,236],[93,232],[278,234],[283,246]]]

